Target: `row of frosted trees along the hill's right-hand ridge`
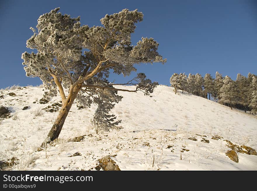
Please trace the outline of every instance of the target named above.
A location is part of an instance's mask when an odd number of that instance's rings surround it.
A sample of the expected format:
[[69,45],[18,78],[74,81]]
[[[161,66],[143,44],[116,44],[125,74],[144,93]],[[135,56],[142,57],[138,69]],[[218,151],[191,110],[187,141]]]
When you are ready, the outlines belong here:
[[[174,73],[170,78],[171,86],[177,90],[202,96],[206,99],[213,97],[218,103],[232,108],[242,109],[245,112],[257,112],[257,76],[249,73],[247,77],[237,74],[234,81],[229,76],[223,77],[216,72],[215,78],[206,73],[201,74]],[[208,96],[209,95],[209,96]]]

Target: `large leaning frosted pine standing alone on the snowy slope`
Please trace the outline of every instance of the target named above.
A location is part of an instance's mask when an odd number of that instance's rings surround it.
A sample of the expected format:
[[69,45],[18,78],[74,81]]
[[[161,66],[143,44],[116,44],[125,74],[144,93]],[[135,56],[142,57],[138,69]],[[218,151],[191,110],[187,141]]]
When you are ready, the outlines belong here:
[[[124,9],[113,15],[105,15],[100,21],[103,26],[81,26],[80,17],[57,13],[60,8],[43,14],[38,19],[37,29],[27,40],[27,48],[37,53],[24,52],[22,59],[26,75],[39,77],[46,90],[44,97],[57,95],[62,98],[62,107],[46,138],[46,143],[58,138],[65,119],[75,99],[84,106],[97,104],[92,123],[95,127],[109,130],[118,125],[109,111],[122,97],[117,91],[153,92],[157,82],[146,79],[144,73],[125,84],[134,85],[135,90],[117,89],[109,83],[109,70],[129,76],[136,71],[134,64],[166,62],[157,52],[158,43],[153,38],[143,38],[131,45],[131,33],[135,23],[143,20],[138,10]],[[82,55],[82,50],[86,49]],[[124,85],[125,85],[124,84]],[[68,89],[65,95],[65,88]],[[45,141],[44,141],[45,142]],[[44,146],[42,143],[41,146]]]

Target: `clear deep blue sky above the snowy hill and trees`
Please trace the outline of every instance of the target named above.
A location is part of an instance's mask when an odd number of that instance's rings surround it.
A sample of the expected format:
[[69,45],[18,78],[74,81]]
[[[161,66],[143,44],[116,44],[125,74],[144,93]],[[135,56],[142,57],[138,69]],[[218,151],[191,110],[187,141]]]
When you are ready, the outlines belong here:
[[[124,8],[143,12],[132,43],[144,37],[159,42],[159,53],[167,63],[142,64],[137,72],[152,81],[169,84],[173,73],[211,73],[219,71],[235,80],[237,73],[257,74],[257,1],[189,0],[189,1],[0,1],[0,88],[14,84],[39,85],[39,78],[28,78],[22,66],[22,52],[32,36],[29,27],[37,25],[40,15],[60,7],[62,14],[81,16],[81,24],[100,25],[105,14]],[[110,76],[110,81],[125,82]]]

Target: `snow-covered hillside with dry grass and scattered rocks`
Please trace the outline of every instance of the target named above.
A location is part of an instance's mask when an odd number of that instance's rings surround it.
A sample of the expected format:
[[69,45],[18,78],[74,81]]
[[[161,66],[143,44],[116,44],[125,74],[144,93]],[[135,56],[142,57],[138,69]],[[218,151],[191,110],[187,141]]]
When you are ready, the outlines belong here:
[[[152,97],[119,92],[124,98],[112,113],[122,120],[122,128],[111,132],[95,134],[90,123],[95,106],[79,109],[74,103],[59,140],[35,152],[58,114],[41,109],[55,103],[48,110],[56,110],[61,100],[58,96],[40,104],[43,89],[27,86],[0,92],[0,106],[14,115],[0,125],[0,160],[18,159],[11,169],[88,170],[98,159],[117,155],[112,159],[121,170],[257,170],[256,155],[236,152],[238,163],[225,155],[231,150],[225,140],[257,150],[255,115],[192,94],[175,95],[164,85],[157,86]],[[77,136],[84,139],[68,141]],[[76,152],[80,155],[69,157]]]

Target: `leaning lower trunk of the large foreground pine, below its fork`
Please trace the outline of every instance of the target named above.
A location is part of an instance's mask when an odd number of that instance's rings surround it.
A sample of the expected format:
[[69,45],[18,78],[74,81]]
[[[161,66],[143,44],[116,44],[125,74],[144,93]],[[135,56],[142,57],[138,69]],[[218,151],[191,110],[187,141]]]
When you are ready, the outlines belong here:
[[41,144],[41,147],[45,146],[45,143],[50,143],[50,141],[53,141],[55,139],[58,138],[61,130],[62,130],[62,126],[65,122],[65,119],[70,111],[70,108],[74,102],[74,99],[76,98],[78,92],[79,92],[80,87],[76,86],[72,89],[70,89],[70,92],[68,94],[68,97],[65,99],[65,101],[62,101],[62,107],[59,111],[59,114],[53,124],[53,127],[51,128],[51,130],[49,131],[48,135],[47,135],[47,141],[44,141]]

